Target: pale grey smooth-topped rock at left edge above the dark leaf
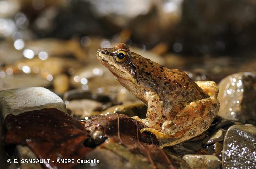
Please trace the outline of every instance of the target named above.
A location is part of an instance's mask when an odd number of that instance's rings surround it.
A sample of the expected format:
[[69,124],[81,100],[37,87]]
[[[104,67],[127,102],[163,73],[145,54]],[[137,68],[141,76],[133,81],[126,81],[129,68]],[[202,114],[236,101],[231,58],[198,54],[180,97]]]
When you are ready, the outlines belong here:
[[66,105],[55,93],[42,87],[30,87],[0,91],[2,117],[44,108],[66,111]]

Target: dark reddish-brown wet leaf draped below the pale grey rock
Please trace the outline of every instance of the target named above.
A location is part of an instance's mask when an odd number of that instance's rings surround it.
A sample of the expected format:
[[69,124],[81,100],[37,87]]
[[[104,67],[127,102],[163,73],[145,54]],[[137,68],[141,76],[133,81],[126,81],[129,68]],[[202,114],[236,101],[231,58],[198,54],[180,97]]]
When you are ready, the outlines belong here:
[[38,158],[50,159],[51,167],[71,168],[75,163],[55,163],[57,158],[76,161],[91,151],[83,144],[88,137],[84,125],[55,108],[10,114],[4,120],[4,130],[5,145],[28,145]]

